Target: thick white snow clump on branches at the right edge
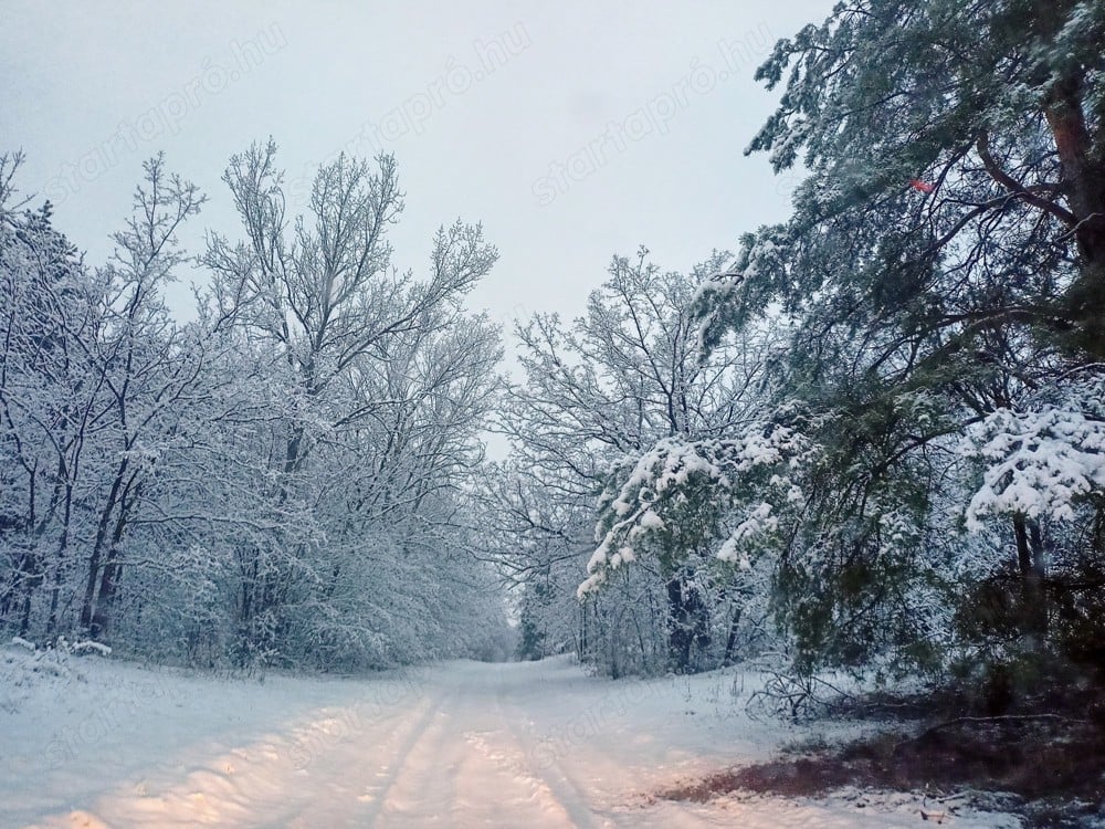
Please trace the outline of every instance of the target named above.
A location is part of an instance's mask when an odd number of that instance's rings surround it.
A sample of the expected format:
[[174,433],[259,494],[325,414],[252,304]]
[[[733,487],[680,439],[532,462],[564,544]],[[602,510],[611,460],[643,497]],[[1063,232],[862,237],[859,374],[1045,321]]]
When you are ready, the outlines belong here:
[[967,507],[971,532],[999,515],[1072,521],[1080,501],[1105,494],[1105,379],[1073,384],[1039,411],[1000,409],[965,449],[986,464]]

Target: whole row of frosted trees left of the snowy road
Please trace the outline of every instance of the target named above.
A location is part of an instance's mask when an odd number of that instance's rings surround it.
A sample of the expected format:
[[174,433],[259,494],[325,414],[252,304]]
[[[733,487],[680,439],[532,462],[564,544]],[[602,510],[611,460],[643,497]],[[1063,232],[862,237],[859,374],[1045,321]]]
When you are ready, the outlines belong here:
[[[157,157],[90,266],[0,159],[0,620],[193,664],[379,667],[494,655],[494,574],[467,550],[498,332],[464,308],[497,253],[443,227],[390,264],[393,159],[323,167],[286,214],[272,141],[223,180],[242,238]],[[180,323],[165,286],[209,282]]]

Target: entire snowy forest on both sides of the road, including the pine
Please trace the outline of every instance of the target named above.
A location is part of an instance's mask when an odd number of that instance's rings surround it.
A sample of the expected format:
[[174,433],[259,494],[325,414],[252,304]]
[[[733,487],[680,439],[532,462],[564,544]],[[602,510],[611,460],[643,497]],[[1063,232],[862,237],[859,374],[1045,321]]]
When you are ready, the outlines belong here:
[[391,155],[291,214],[302,159],[260,138],[202,250],[155,156],[93,263],[9,148],[0,629],[246,671],[770,659],[787,701],[1101,689],[1102,43],[1096,0],[841,2],[756,70],[786,221],[686,272],[620,253],[578,318],[508,332],[467,304],[478,223],[392,264]]

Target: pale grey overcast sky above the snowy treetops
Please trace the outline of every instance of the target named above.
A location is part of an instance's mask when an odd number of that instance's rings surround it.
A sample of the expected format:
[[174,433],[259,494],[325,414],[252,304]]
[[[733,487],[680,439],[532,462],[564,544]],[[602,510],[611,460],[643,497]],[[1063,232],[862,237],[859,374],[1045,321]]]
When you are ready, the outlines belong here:
[[778,96],[753,73],[830,6],[0,0],[0,151],[93,264],[158,150],[210,198],[196,252],[239,235],[220,176],[251,141],[276,139],[293,198],[343,149],[393,153],[400,269],[482,221],[502,255],[472,305],[573,316],[613,253],[685,271],[786,216],[792,177],[741,154]]

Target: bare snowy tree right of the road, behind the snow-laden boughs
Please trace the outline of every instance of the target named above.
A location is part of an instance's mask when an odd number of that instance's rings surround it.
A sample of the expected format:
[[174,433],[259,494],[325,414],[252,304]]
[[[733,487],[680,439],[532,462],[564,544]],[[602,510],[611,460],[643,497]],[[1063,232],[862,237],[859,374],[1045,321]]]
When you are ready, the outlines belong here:
[[[526,382],[513,393],[505,428],[516,444],[515,475],[527,476],[546,495],[544,503],[527,504],[533,486],[519,480],[505,501],[507,515],[532,539],[529,552],[545,550],[547,557],[544,563],[524,557],[523,569],[546,580],[528,584],[529,600],[567,599],[569,590],[547,584],[551,565],[568,556],[580,563],[591,558],[599,496],[611,487],[617,492],[640,453],[657,441],[711,440],[755,419],[766,353],[746,349],[749,338],[705,361],[698,355],[691,313],[695,291],[725,259],[716,253],[685,276],[662,272],[644,250],[635,260],[615,258],[609,280],[590,296],[587,316],[570,328],[550,316],[519,326]],[[562,517],[550,528],[545,515]],[[724,591],[705,565],[716,526],[690,521],[690,512],[684,517],[664,539],[653,536],[662,549],[642,556],[640,574],[607,583],[606,568],[600,573],[592,562],[589,588],[607,589],[592,608],[597,616],[588,647],[606,651],[601,658],[613,669],[609,637],[634,642],[634,657],[619,653],[619,672],[690,670],[696,652],[711,642],[711,616],[718,590]],[[613,607],[620,591],[628,611]],[[635,618],[642,611],[646,618]],[[664,640],[660,648],[651,644],[657,633]],[[636,668],[628,668],[633,662]]]

